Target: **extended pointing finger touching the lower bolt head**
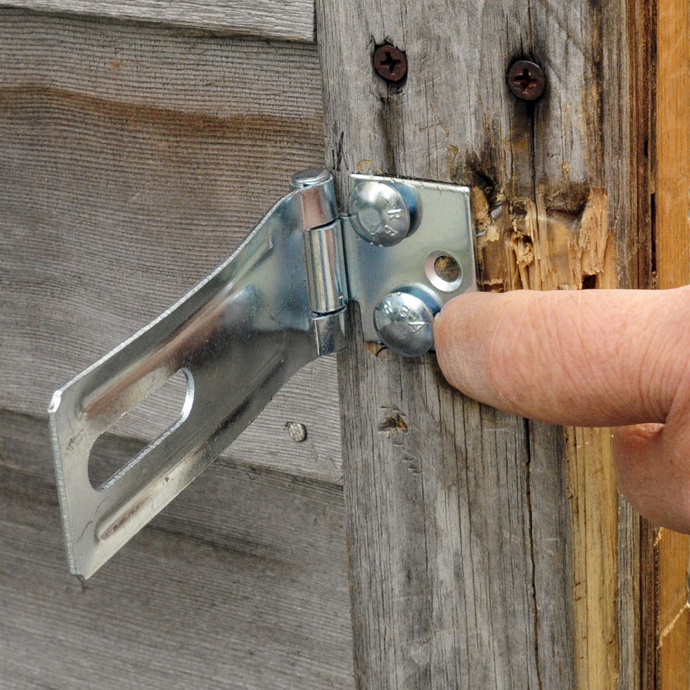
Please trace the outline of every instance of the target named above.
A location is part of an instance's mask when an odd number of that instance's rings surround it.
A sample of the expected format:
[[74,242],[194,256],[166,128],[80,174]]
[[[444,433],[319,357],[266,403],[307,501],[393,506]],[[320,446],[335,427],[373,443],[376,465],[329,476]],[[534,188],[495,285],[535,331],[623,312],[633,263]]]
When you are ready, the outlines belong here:
[[444,306],[435,347],[461,391],[531,419],[662,423],[690,361],[690,291],[472,293]]

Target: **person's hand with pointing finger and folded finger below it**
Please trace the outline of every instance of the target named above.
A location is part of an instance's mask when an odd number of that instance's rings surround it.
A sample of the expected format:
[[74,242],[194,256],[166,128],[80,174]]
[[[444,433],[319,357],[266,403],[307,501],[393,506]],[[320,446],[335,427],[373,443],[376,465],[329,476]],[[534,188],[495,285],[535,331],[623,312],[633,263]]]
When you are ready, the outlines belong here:
[[653,522],[690,533],[690,286],[461,295],[434,333],[446,379],[475,400],[620,427],[620,491]]

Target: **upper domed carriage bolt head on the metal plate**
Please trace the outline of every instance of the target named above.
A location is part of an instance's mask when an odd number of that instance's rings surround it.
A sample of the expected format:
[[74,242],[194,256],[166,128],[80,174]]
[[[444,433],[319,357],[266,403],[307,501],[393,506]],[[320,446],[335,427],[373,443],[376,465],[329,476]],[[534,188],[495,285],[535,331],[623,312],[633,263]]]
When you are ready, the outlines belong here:
[[410,232],[405,199],[385,182],[360,182],[350,194],[348,215],[357,235],[378,247],[392,247]]

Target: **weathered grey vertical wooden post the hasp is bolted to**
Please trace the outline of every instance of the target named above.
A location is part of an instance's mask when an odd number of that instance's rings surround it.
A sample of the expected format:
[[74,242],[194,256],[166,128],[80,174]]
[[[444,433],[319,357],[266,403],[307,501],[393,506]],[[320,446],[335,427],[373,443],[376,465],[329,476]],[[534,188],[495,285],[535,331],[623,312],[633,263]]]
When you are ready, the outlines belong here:
[[[628,256],[638,234],[628,10],[317,2],[341,198],[355,170],[471,184],[483,289],[615,284],[615,244]],[[371,70],[384,41],[406,51],[402,85]],[[546,70],[537,103],[506,88],[520,56]],[[339,382],[358,687],[617,687],[635,631],[620,643],[627,542],[606,434],[566,443],[477,406],[447,388],[433,357],[355,346]],[[379,431],[388,417],[404,420],[390,437]]]

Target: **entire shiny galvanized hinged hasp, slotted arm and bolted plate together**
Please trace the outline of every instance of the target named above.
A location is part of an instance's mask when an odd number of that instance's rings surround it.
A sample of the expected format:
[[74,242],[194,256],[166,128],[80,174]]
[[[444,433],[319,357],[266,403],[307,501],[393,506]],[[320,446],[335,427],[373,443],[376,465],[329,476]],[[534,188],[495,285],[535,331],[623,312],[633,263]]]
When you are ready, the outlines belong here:
[[[50,429],[70,570],[88,578],[235,440],[307,362],[346,344],[359,303],[367,342],[433,346],[433,317],[475,289],[469,188],[351,175],[338,216],[326,170],[293,191],[177,304],[60,388]],[[179,419],[97,488],[93,444],[175,373]]]

